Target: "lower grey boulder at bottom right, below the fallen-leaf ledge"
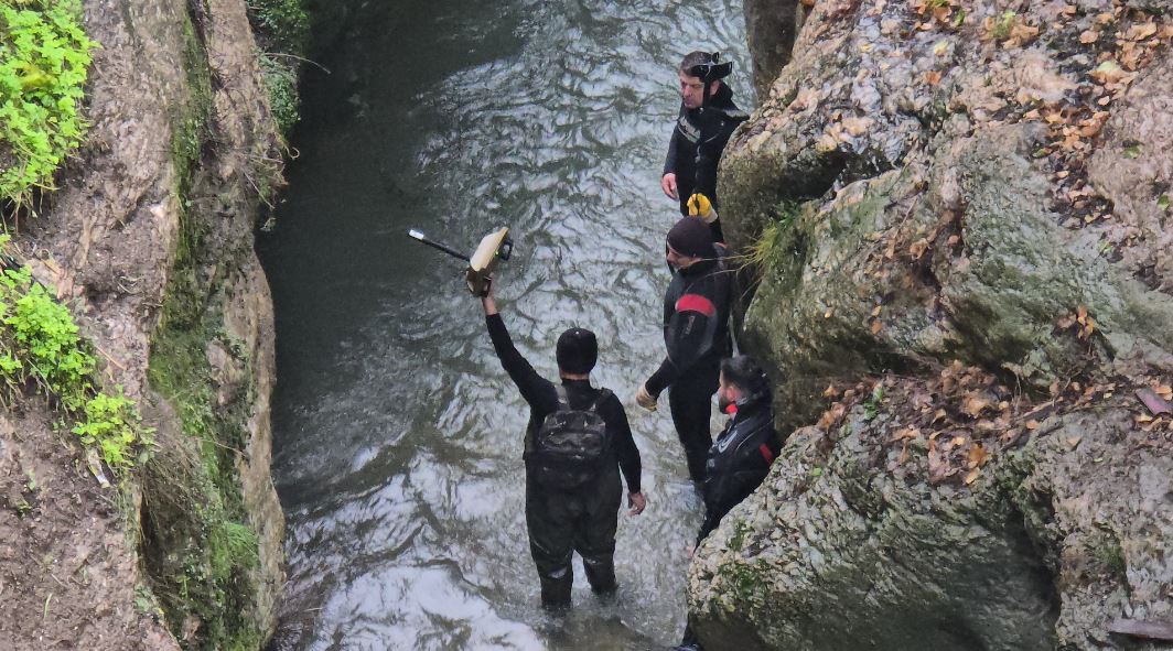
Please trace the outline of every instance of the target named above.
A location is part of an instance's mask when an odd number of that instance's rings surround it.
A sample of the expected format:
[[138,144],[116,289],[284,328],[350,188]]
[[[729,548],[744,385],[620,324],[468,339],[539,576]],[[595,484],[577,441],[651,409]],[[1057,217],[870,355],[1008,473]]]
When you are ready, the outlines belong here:
[[857,406],[834,434],[794,434],[690,569],[703,639],[795,651],[1160,647],[1107,632],[1117,617],[1169,617],[1173,457],[1137,440],[1130,409],[1045,420],[1045,436],[970,486],[927,481],[922,455],[899,461],[901,447],[884,445],[897,412]]

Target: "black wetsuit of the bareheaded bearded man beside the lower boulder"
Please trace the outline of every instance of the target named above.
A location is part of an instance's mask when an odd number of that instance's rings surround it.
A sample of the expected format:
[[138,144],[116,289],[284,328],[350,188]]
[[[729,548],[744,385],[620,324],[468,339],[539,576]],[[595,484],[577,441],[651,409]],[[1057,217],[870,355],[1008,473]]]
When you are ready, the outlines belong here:
[[698,544],[766,479],[780,448],[769,395],[738,404],[737,413],[708,448],[705,521],[697,536]]

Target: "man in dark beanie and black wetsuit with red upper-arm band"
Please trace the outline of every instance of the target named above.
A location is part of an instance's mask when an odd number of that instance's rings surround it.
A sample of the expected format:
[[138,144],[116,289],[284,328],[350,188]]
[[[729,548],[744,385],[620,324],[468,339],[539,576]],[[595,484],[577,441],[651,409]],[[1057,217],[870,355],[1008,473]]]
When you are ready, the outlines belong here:
[[689,476],[705,479],[705,454],[712,439],[708,416],[717,392],[720,360],[733,350],[730,339],[730,272],[725,247],[714,244],[708,226],[683,217],[669,231],[665,257],[672,282],[664,294],[664,344],[667,355],[636,392],[636,402],[656,409],[667,388],[676,434],[684,446]]

